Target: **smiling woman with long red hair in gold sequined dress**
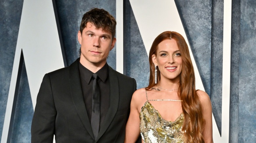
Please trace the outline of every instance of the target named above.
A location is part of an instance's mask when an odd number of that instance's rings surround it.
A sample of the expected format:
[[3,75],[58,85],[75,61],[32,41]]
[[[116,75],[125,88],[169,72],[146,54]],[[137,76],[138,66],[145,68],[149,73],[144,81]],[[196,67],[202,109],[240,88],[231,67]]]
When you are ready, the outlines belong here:
[[177,32],[165,31],[149,53],[149,86],[134,92],[125,142],[212,143],[212,107],[195,89],[188,46]]

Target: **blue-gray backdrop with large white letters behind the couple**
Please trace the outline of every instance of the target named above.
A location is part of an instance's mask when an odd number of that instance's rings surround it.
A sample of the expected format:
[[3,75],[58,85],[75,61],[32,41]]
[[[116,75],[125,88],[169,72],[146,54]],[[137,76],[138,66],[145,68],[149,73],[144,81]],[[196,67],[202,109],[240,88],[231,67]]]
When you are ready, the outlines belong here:
[[214,142],[256,140],[256,2],[254,0],[1,0],[0,139],[30,142],[36,96],[45,73],[79,57],[82,15],[104,8],[117,20],[117,43],[107,59],[149,81],[148,53],[163,31],[189,44],[196,88],[210,96]]

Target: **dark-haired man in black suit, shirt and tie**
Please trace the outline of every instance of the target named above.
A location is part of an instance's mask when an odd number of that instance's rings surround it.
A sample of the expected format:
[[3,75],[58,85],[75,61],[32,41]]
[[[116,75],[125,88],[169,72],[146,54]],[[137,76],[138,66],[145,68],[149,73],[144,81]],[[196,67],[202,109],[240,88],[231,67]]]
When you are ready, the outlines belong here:
[[32,143],[53,142],[53,135],[57,143],[124,142],[136,81],[106,63],[116,43],[115,32],[116,20],[104,9],[83,15],[77,34],[80,58],[43,78],[32,119]]

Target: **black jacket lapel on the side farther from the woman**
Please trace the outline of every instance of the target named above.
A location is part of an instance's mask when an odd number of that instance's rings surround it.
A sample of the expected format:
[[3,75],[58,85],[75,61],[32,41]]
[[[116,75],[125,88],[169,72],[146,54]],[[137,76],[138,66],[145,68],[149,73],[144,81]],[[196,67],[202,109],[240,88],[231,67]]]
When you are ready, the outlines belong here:
[[80,58],[78,58],[73,64],[70,65],[69,79],[70,79],[70,88],[72,92],[72,99],[73,99],[73,103],[75,105],[77,114],[81,119],[85,129],[92,136],[92,138],[94,138],[92,127],[86,112],[84,99],[83,99],[83,93],[82,93],[80,76],[79,76],[80,74],[78,69],[79,59]]

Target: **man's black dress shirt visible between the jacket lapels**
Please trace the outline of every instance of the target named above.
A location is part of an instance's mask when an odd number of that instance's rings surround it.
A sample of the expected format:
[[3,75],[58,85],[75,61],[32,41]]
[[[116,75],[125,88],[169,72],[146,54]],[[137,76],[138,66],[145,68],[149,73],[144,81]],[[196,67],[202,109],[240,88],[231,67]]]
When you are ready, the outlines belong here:
[[[93,72],[85,68],[80,62],[78,67],[80,72],[80,81],[83,91],[84,103],[89,120],[91,122],[93,100]],[[108,64],[106,63],[100,70],[96,72],[96,74],[99,76],[97,82],[100,88],[100,128],[109,108],[110,82],[108,78]]]

